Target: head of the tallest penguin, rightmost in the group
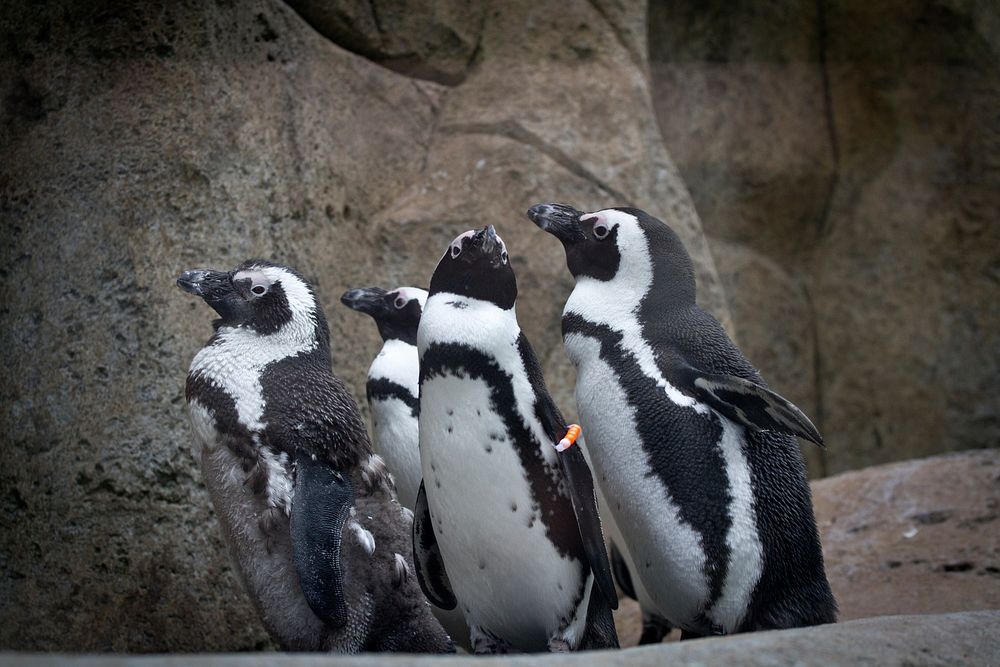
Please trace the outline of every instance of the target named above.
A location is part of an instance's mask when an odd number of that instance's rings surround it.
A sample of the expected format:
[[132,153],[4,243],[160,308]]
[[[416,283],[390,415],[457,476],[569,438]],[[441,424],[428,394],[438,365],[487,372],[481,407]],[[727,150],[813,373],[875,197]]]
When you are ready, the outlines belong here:
[[573,277],[643,289],[652,280],[665,295],[694,303],[691,257],[677,234],[645,211],[606,208],[585,213],[567,204],[536,204],[528,209],[528,218],[559,239]]

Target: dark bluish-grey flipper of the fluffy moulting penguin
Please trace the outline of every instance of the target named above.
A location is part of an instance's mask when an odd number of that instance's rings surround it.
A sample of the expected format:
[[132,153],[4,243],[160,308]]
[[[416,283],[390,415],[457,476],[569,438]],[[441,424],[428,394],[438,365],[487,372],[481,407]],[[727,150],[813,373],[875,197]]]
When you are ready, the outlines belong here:
[[353,504],[351,480],[299,450],[289,517],[292,556],[306,602],[332,628],[347,624],[340,547]]

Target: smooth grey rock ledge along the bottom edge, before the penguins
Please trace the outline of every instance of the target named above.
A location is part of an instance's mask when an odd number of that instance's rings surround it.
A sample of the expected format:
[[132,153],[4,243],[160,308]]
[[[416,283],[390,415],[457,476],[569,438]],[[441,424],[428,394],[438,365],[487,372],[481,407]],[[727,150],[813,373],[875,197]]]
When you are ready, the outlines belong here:
[[[1000,611],[965,612],[931,616],[890,616],[838,623],[815,628],[760,632],[697,641],[644,646],[624,651],[574,655],[498,656],[489,664],[510,667],[653,667],[676,665],[734,665],[779,667],[784,665],[995,665],[1000,661],[996,628]],[[330,664],[326,656],[282,654],[214,656],[27,656],[3,655],[11,667],[319,667]],[[472,667],[483,658],[461,656],[344,656],[344,667],[374,665],[453,665]]]

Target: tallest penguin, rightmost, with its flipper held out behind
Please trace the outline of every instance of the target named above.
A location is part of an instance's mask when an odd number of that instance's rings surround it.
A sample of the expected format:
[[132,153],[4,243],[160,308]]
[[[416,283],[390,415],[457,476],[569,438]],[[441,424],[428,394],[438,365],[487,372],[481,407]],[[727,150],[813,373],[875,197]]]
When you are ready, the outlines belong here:
[[835,621],[792,437],[820,435],[695,304],[677,235],[632,208],[539,204],[528,217],[576,279],[563,340],[640,599],[685,637]]

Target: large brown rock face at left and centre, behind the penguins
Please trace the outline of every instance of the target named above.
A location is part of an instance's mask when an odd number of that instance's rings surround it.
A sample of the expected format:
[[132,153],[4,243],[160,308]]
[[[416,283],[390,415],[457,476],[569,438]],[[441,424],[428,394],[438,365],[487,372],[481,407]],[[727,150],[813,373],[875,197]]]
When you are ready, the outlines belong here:
[[[522,324],[571,409],[558,334],[571,281],[524,217],[539,200],[673,222],[724,315],[659,140],[644,4],[460,6],[435,15],[443,32],[370,52],[399,69],[388,60],[408,49],[441,71],[468,58],[448,87],[348,52],[280,2],[4,4],[0,646],[267,645],[189,452],[183,380],[212,316],[174,286],[183,269],[299,268],[359,396],[377,334],[340,293],[423,283],[451,238],[494,223]],[[350,25],[363,51],[370,28]]]

